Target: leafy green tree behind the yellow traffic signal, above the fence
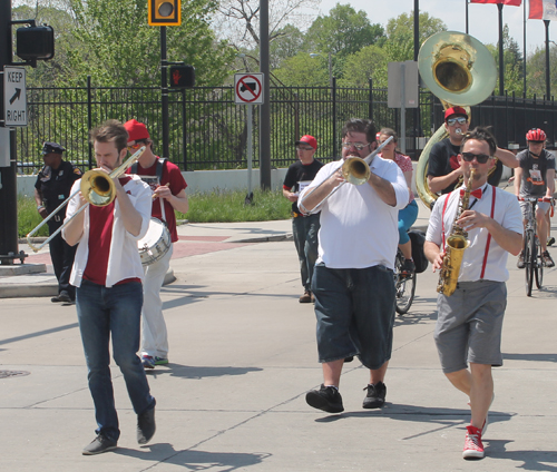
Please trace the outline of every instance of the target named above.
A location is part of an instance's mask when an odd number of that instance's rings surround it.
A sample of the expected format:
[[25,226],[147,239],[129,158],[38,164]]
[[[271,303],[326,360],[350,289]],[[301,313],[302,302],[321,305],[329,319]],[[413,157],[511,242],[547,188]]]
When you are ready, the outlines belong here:
[[[69,0],[79,48],[68,52],[67,83],[152,86],[160,82],[160,28],[147,24],[147,0]],[[219,85],[234,51],[217,42],[208,16],[216,4],[184,2],[182,26],[167,27],[167,58],[196,68],[196,83]]]

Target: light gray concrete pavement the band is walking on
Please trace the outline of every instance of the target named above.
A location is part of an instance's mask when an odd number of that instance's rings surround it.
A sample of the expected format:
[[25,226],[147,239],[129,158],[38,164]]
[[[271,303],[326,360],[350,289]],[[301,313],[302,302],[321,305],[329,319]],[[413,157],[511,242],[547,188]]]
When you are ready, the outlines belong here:
[[470,463],[461,459],[468,399],[440,372],[438,275],[429,271],[418,276],[410,313],[395,322],[385,407],[361,407],[368,373],[358,361],[344,367],[344,413],[305,404],[322,374],[313,307],[297,303],[294,244],[250,242],[290,230],[290,222],[180,227],[178,244],[190,254],[173,259],[177,279],[163,288],[170,364],[148,374],[157,433],[143,448],[114,366],[118,449],[81,455],[96,424],[75,307],[0,299],[2,470],[557,470],[556,269],[528,298],[524,272],[509,258],[505,365],[494,373],[487,458]]

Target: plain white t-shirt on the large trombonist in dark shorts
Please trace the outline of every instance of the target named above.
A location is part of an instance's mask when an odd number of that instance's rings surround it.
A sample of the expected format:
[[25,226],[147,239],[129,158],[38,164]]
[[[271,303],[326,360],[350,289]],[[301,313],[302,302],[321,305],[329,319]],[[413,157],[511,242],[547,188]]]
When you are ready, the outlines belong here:
[[[321,168],[305,193],[326,180],[336,171],[343,159]],[[365,268],[375,265],[394,267],[399,244],[399,209],[408,204],[404,175],[392,160],[378,156],[370,169],[389,180],[397,196],[397,205],[387,205],[370,184],[344,184],[321,207],[319,258],[330,268]]]

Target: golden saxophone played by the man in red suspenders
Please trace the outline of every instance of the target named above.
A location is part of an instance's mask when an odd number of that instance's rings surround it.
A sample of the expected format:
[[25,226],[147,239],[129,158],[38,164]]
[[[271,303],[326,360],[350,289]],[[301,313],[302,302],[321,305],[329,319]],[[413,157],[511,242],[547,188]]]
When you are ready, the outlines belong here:
[[462,198],[459,201],[457,214],[455,215],[455,219],[452,222],[451,235],[447,238],[447,249],[443,257],[443,265],[441,266],[439,283],[437,284],[437,292],[447,296],[451,296],[457,289],[458,275],[460,273],[460,266],[462,265],[465,249],[470,245],[470,242],[467,239],[468,233],[466,233],[460,226],[456,225],[456,223],[462,213],[468,209],[476,169],[472,168],[470,170],[470,177],[468,177],[468,185],[465,188],[465,195],[462,195]]

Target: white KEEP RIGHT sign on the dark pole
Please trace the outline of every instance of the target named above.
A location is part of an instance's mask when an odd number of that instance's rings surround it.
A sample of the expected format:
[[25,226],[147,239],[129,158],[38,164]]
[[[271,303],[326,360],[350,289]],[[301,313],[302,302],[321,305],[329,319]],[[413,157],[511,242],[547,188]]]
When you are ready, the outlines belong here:
[[26,69],[23,67],[4,66],[3,104],[3,126],[27,126]]

